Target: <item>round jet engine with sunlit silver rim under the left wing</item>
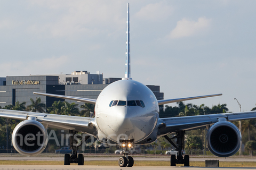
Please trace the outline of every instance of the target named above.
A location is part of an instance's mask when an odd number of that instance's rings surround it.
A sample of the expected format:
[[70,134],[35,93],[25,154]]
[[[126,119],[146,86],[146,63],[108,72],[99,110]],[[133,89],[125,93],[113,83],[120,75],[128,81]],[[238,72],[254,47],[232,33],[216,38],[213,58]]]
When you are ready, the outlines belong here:
[[46,147],[48,134],[44,126],[35,117],[20,122],[13,130],[13,147],[22,155],[40,154]]

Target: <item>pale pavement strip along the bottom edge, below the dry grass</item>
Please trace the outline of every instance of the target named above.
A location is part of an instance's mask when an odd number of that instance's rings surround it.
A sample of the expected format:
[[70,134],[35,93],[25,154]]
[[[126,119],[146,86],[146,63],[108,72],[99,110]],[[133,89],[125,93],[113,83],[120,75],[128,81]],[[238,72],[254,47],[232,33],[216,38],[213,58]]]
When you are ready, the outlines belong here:
[[167,169],[177,169],[177,170],[203,170],[203,169],[207,169],[207,170],[217,170],[217,169],[255,169],[255,168],[207,168],[207,167],[166,167],[166,166],[133,166],[133,167],[119,167],[119,166],[78,166],[78,165],[70,165],[70,166],[65,166],[65,165],[1,165],[0,170],[5,170],[5,169],[9,169],[9,170],[79,170],[79,169],[106,169],[106,170],[121,170],[121,169],[125,169],[125,170],[155,170],[155,169],[163,169],[163,170],[167,170]]

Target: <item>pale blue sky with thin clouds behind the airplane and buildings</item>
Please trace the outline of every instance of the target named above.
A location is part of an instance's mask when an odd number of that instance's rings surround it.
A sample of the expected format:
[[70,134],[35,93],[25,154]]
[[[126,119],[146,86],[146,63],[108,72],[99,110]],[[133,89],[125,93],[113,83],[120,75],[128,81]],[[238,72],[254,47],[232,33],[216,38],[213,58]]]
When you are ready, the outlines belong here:
[[124,77],[127,3],[133,80],[165,99],[255,107],[256,1],[0,1],[0,77]]

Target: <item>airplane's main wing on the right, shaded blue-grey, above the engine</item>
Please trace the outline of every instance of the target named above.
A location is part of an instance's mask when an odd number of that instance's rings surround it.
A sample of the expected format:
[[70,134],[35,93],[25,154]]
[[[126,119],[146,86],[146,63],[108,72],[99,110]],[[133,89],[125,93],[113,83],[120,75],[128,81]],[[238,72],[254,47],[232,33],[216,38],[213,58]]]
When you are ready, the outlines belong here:
[[161,135],[177,132],[180,130],[195,130],[207,125],[217,123],[219,118],[226,118],[228,122],[256,118],[256,112],[221,113],[198,116],[183,116],[159,118],[159,132]]

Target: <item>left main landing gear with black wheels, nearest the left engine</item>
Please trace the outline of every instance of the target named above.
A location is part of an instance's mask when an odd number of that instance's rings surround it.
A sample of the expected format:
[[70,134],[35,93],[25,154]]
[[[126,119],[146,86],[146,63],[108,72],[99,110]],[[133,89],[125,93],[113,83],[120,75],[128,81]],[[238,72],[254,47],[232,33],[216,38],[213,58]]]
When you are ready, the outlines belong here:
[[[81,140],[80,143],[77,143],[77,141],[74,140],[75,134],[77,134],[76,131],[69,130],[69,146],[72,149],[72,154],[71,154],[71,156],[69,154],[65,154],[64,165],[70,165],[70,163],[84,165],[84,155],[78,154],[78,156],[77,156],[77,151],[78,151],[78,147],[80,147],[82,145],[83,141],[86,141],[89,138],[89,136],[86,136],[84,140]],[[77,138],[82,139],[82,137],[79,135],[77,136]]]

